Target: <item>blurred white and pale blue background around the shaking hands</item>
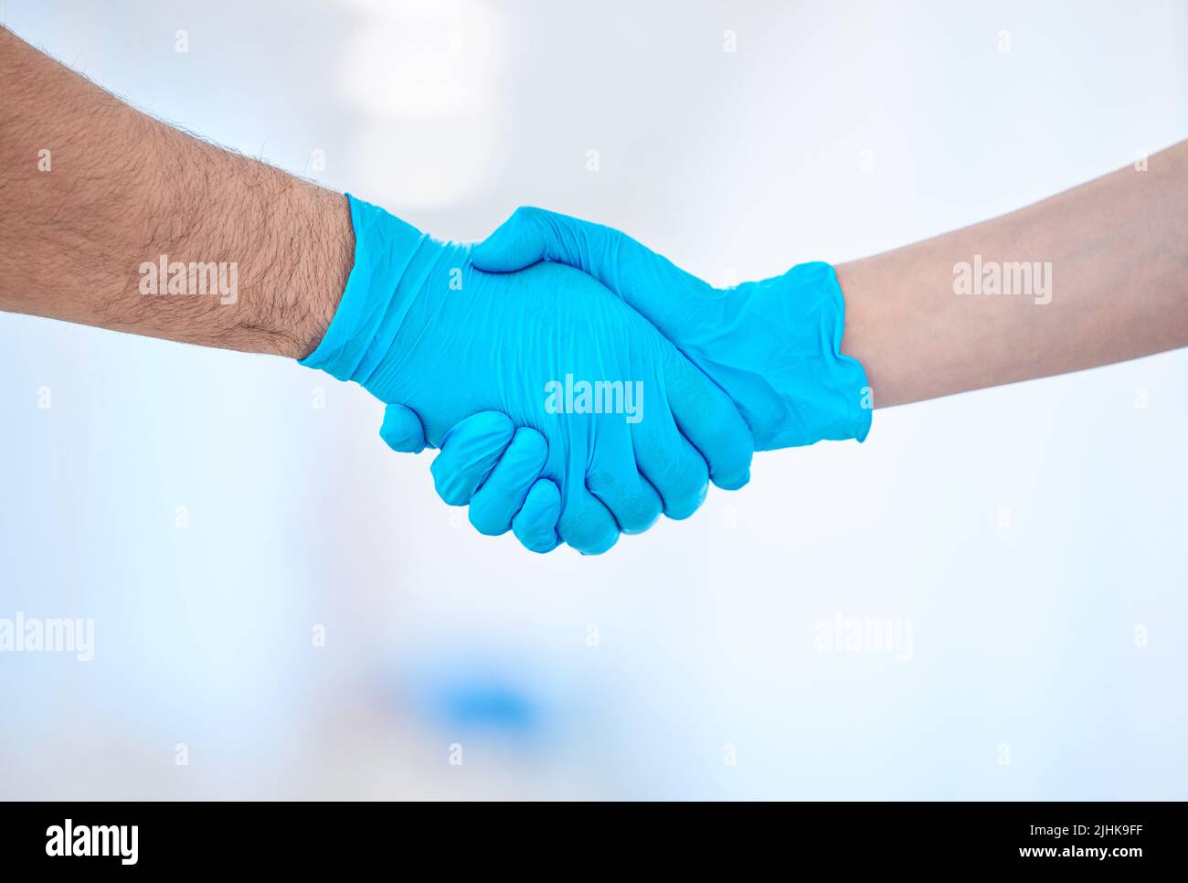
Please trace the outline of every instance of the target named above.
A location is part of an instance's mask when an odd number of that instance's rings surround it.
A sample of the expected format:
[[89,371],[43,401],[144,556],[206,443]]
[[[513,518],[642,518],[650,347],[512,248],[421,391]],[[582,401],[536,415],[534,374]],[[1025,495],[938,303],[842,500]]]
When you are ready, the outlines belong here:
[[[1188,137],[1183,0],[0,20],[437,236],[539,204],[719,284]],[[95,630],[89,662],[0,654],[0,797],[1183,799],[1186,378],[1180,351],[878,411],[688,522],[533,556],[358,387],[0,315],[0,617]],[[896,647],[835,641],[867,623]]]

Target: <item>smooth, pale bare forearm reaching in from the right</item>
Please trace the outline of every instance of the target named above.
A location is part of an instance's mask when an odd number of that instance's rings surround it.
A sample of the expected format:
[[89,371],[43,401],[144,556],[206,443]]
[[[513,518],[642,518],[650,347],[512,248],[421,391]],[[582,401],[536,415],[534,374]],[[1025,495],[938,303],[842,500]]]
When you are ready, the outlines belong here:
[[838,278],[877,406],[1188,346],[1188,141]]

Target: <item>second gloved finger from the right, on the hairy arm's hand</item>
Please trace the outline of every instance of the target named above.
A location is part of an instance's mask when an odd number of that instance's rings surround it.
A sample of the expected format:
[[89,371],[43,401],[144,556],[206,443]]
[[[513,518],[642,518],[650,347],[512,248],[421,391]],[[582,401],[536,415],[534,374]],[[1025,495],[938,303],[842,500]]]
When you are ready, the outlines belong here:
[[706,500],[709,469],[672,415],[650,414],[632,427],[639,473],[656,488],[669,518],[688,518]]

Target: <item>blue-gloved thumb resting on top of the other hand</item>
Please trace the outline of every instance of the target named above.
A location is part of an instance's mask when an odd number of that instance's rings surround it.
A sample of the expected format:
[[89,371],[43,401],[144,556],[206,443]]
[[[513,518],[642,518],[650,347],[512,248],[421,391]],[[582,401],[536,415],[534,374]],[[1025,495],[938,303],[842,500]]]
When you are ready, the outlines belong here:
[[601,282],[669,338],[688,323],[689,297],[719,294],[625,233],[531,206],[516,209],[475,246],[470,259],[488,272],[523,270],[538,260],[568,264]]

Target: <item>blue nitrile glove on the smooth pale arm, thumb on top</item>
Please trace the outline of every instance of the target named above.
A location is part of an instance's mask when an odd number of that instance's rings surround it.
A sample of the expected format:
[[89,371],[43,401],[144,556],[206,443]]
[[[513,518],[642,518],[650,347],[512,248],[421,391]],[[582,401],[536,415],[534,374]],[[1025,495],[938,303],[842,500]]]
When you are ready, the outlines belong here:
[[870,431],[866,372],[841,354],[845,302],[828,264],[715,289],[615,229],[538,208],[517,209],[472,258],[491,272],[544,260],[593,276],[726,391],[756,450]]

